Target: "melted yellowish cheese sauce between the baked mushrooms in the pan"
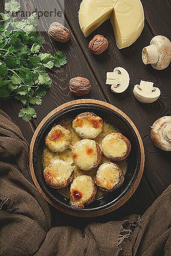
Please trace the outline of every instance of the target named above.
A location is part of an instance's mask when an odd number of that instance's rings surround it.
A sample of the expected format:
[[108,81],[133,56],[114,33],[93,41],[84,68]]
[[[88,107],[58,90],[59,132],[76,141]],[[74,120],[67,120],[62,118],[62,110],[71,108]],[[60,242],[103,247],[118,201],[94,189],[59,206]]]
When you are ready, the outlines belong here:
[[[67,127],[70,130],[71,133],[71,145],[74,145],[76,142],[82,140],[81,137],[79,137],[75,131],[72,129],[72,120],[67,120],[65,122],[62,122],[61,125],[64,125],[65,127]],[[107,135],[110,134],[112,132],[119,132],[116,128],[113,127],[113,125],[104,122],[103,123],[103,130],[101,132],[101,134],[99,134],[99,136],[97,136],[95,139],[96,143],[99,144],[99,146],[101,147],[101,141],[103,140],[103,138]],[[51,152],[49,151],[49,149],[47,147],[44,148],[43,150],[43,156],[42,156],[42,161],[43,161],[43,167],[45,168],[49,163],[52,162],[52,160],[55,159],[61,159],[63,161],[72,163],[72,154],[71,154],[71,149],[68,148],[63,152],[59,152],[59,153],[55,153],[55,152]],[[103,157],[102,161],[100,164],[102,163],[108,163],[109,161]],[[115,162],[124,172],[124,174],[127,171],[127,160],[123,160],[121,162]],[[72,164],[74,165],[74,164]],[[98,166],[99,167],[99,166]],[[90,171],[83,171],[78,169],[78,167],[75,167],[74,169],[74,178],[79,176],[79,175],[90,175],[93,180],[95,180],[96,177],[96,172],[98,167],[96,167],[93,170]],[[64,188],[64,189],[59,189],[58,190],[62,195],[64,195],[67,198],[70,198],[70,186]],[[104,192],[102,190],[100,190],[99,188],[97,188],[97,194],[96,194],[96,199],[98,198],[102,198],[104,195],[106,195],[108,192]]]

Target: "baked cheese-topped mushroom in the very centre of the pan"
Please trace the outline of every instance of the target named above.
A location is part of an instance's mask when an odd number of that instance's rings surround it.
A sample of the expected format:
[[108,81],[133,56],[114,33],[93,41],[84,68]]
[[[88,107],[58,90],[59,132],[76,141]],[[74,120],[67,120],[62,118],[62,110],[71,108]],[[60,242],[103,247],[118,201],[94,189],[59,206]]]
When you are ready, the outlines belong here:
[[80,140],[72,148],[73,162],[84,171],[96,168],[101,158],[101,149],[94,140]]

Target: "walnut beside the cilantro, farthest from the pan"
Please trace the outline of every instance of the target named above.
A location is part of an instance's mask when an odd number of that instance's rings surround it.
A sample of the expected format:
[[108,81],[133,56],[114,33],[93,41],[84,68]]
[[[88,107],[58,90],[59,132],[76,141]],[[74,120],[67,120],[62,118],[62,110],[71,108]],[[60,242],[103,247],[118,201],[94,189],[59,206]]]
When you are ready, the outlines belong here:
[[50,25],[48,34],[50,38],[61,43],[67,42],[71,37],[70,30],[58,22]]

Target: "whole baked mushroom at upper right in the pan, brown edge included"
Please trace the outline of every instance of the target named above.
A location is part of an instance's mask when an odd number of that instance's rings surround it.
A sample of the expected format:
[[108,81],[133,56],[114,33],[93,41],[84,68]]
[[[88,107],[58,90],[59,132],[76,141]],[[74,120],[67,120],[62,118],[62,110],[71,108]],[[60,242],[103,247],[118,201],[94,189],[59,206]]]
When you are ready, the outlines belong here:
[[125,160],[130,154],[131,144],[121,133],[111,133],[104,137],[101,148],[105,157],[113,161]]

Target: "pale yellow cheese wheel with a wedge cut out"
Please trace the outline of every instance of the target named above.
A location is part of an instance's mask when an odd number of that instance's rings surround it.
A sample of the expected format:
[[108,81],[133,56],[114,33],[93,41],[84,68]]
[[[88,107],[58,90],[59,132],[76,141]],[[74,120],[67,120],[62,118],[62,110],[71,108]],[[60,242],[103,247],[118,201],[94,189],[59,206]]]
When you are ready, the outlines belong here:
[[85,37],[110,18],[119,49],[133,44],[144,27],[140,0],[83,0],[78,16]]

